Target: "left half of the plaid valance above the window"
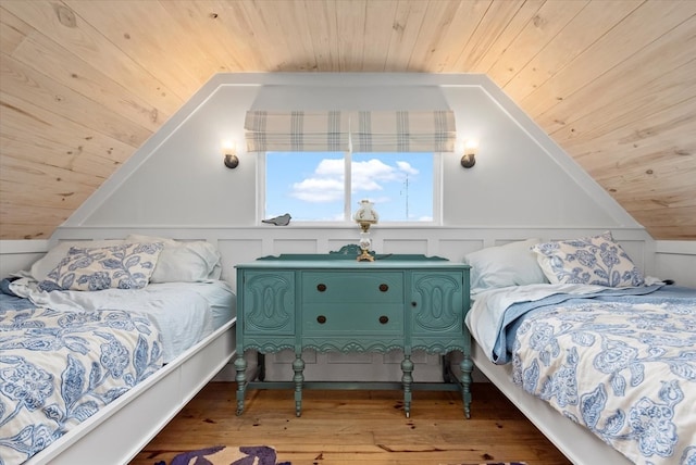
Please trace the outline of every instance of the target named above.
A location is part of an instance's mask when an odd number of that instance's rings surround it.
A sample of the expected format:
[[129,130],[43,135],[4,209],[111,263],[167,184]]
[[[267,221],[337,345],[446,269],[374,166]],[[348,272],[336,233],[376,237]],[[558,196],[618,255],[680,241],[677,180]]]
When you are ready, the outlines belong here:
[[244,122],[249,152],[347,152],[348,113],[249,111]]

